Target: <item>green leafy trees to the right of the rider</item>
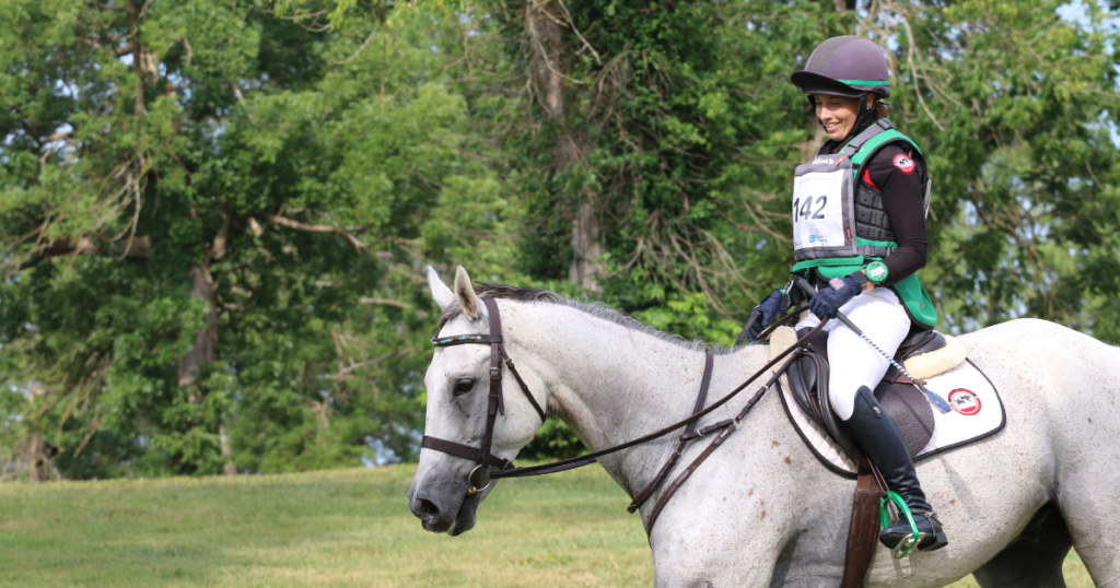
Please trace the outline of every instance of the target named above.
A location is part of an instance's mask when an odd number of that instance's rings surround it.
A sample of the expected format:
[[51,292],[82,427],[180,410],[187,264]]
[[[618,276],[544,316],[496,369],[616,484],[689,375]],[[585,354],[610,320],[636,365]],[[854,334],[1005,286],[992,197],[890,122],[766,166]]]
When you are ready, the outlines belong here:
[[1062,4],[899,4],[908,20],[880,22],[899,35],[893,120],[935,175],[926,281],[955,330],[1033,316],[1120,340],[1118,31],[1096,2],[1083,22]]

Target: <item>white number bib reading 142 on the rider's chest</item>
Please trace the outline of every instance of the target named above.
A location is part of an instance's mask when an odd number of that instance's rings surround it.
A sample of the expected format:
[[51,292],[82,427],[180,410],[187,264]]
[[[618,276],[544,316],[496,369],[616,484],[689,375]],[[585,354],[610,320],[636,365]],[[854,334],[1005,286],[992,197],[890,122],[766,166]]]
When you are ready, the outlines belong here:
[[851,161],[818,156],[793,179],[793,254],[796,261],[856,255]]

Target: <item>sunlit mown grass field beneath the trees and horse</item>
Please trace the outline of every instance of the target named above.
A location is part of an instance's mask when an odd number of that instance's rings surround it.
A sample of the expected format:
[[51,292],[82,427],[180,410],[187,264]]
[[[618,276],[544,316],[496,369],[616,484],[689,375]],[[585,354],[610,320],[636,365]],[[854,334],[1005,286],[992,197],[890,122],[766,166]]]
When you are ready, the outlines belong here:
[[[460,538],[408,512],[414,470],[0,485],[0,586],[652,584],[641,522],[600,468],[503,482]],[[1066,569],[1092,586],[1076,556]]]

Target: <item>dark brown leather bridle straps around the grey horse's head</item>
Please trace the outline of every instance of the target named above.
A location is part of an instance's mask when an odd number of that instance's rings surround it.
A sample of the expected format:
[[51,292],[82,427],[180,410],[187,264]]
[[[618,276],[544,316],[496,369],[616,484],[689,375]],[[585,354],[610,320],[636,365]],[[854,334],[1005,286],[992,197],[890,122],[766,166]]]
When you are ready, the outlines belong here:
[[420,447],[426,449],[442,451],[445,454],[469,459],[478,464],[470,470],[470,475],[467,476],[467,484],[469,484],[469,488],[467,489],[468,495],[488,488],[491,484],[493,484],[491,474],[494,470],[502,472],[513,468],[513,463],[508,459],[502,459],[491,454],[491,447],[494,444],[494,423],[497,421],[498,414],[505,416],[505,399],[502,394],[503,361],[510,368],[510,373],[513,374],[514,380],[517,381],[517,385],[521,386],[521,391],[525,394],[525,398],[529,399],[530,404],[536,409],[536,414],[541,417],[541,422],[544,422],[545,419],[544,411],[541,409],[541,405],[536,403],[536,399],[533,398],[533,394],[529,392],[529,386],[525,385],[525,381],[521,379],[521,374],[517,373],[517,368],[513,366],[513,361],[510,358],[510,354],[506,353],[505,346],[502,343],[502,316],[497,311],[497,302],[495,302],[493,298],[483,298],[482,301],[486,305],[486,311],[489,314],[489,335],[451,335],[450,337],[440,337],[437,335],[431,338],[431,344],[437,347],[450,347],[452,345],[491,346],[491,389],[486,403],[486,432],[483,435],[483,445],[482,447],[472,447],[469,445],[457,444],[455,441],[429,437],[427,435],[423,436],[423,439],[420,441]]

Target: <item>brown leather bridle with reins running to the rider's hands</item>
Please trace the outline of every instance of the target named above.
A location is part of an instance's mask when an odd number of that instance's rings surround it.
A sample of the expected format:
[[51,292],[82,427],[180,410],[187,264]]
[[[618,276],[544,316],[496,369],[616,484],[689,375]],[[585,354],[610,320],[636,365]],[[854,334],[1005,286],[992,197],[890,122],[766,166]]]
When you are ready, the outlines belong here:
[[[657,429],[656,431],[653,431],[648,435],[638,437],[637,439],[632,439],[624,444],[616,445],[614,447],[608,447],[607,449],[600,449],[598,451],[594,451],[584,456],[561,459],[559,461],[553,461],[551,464],[542,464],[539,466],[514,467],[513,463],[510,461],[508,459],[502,459],[491,454],[491,447],[493,446],[494,442],[494,423],[497,420],[498,413],[503,416],[505,414],[505,401],[502,394],[503,358],[505,361],[506,366],[510,367],[510,373],[513,374],[513,377],[517,381],[517,384],[521,386],[521,391],[525,394],[525,398],[529,399],[530,403],[532,403],[533,408],[536,409],[536,413],[541,417],[542,422],[545,419],[545,414],[544,411],[541,410],[540,404],[536,403],[536,400],[533,398],[533,394],[530,393],[529,386],[525,385],[525,382],[524,380],[522,380],[521,374],[517,373],[516,368],[513,365],[513,361],[510,360],[508,354],[505,352],[505,347],[503,346],[503,340],[502,340],[502,319],[498,315],[497,304],[494,301],[493,298],[483,298],[482,301],[486,305],[486,310],[489,312],[489,319],[491,319],[489,335],[472,334],[472,335],[452,335],[449,337],[436,336],[432,337],[431,339],[432,345],[437,347],[449,347],[452,345],[469,345],[469,344],[491,346],[491,367],[489,367],[491,388],[489,388],[488,403],[486,408],[487,411],[486,431],[485,435],[483,436],[482,447],[472,447],[468,445],[457,444],[455,441],[448,441],[436,437],[429,437],[427,435],[423,437],[423,440],[420,444],[420,446],[423,448],[432,449],[436,451],[442,451],[445,454],[454,455],[456,457],[461,457],[464,459],[468,459],[478,464],[478,466],[476,466],[467,476],[467,483],[469,484],[469,487],[467,489],[467,495],[472,495],[488,488],[491,484],[494,483],[494,479],[498,478],[523,478],[530,476],[542,476],[544,474],[566,472],[568,469],[576,469],[578,467],[594,464],[599,457],[622,451],[623,449],[628,449],[636,445],[642,445],[644,442],[652,441],[654,439],[669,435],[674,430],[680,429],[681,427],[691,424],[700,420],[704,416],[711,413],[716,409],[726,404],[729,400],[735,398],[739,392],[743,392],[748,385],[750,385],[752,382],[758,380],[758,377],[760,377],[764,373],[766,373],[768,370],[777,365],[787,355],[793,353],[794,349],[804,345],[810,338],[812,338],[813,335],[815,335],[821,328],[824,327],[825,323],[828,323],[827,320],[821,321],[808,335],[799,339],[797,343],[790,346],[790,348],[785,349],[776,357],[767,362],[766,365],[762,366],[757,372],[755,372],[750,377],[748,377],[746,382],[739,384],[735,390],[727,393],[727,395],[725,395],[724,398],[717,400],[712,405],[708,407],[707,409],[693,412],[690,417],[683,420],[680,420],[678,422]],[[709,372],[707,370],[707,365],[706,365],[706,372]],[[734,431],[735,429],[738,428],[739,422],[747,416],[750,409],[754,408],[755,403],[757,403],[758,400],[762,399],[762,395],[766,392],[766,390],[773,385],[773,383],[777,380],[777,376],[778,374],[781,374],[781,372],[782,370],[778,370],[777,373],[775,373],[774,376],[771,379],[771,381],[767,382],[765,385],[763,385],[762,389],[759,389],[755,393],[755,395],[750,399],[750,401],[747,402],[743,411],[740,411],[734,419],[728,419],[728,421],[726,422],[719,422],[712,426],[716,429],[727,428],[727,431],[725,431],[725,433],[721,436],[722,438],[726,438],[726,436],[730,431]],[[706,428],[706,429],[711,429],[711,428]],[[708,431],[703,430],[701,435],[703,432]],[[692,432],[692,435],[689,436],[688,439],[682,439],[682,440],[687,441],[696,437],[699,437],[699,435]],[[661,478],[663,479],[663,476],[661,476]],[[675,485],[676,484],[674,484],[674,487]],[[663,503],[659,503],[656,508],[657,512],[661,511],[662,505]]]

